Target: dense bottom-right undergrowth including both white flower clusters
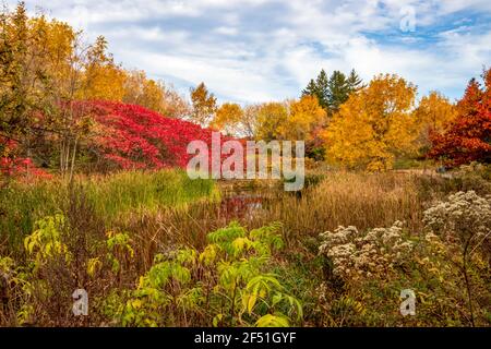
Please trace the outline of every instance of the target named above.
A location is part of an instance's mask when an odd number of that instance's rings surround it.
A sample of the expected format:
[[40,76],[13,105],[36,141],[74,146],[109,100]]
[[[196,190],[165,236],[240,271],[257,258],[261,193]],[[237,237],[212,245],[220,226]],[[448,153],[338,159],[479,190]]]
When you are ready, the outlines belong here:
[[[351,325],[489,325],[490,219],[488,198],[459,192],[424,212],[417,236],[400,222],[322,233],[319,251],[332,272],[319,288],[324,321],[339,324],[342,304]],[[414,318],[397,314],[403,289],[416,293]]]

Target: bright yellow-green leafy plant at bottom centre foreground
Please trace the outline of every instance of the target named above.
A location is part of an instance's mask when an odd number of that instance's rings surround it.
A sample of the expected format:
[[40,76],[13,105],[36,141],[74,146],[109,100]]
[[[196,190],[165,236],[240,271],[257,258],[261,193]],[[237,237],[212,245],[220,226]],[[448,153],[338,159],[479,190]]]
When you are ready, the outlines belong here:
[[301,322],[302,305],[271,273],[272,255],[284,244],[278,228],[273,224],[248,231],[232,222],[208,233],[202,251],[157,254],[136,289],[109,299],[107,309],[123,326]]

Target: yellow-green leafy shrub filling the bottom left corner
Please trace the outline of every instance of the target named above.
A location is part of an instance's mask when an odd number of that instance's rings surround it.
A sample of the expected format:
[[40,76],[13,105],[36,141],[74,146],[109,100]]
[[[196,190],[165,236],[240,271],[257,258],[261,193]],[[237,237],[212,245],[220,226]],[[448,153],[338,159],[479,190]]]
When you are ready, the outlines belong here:
[[[80,203],[72,203],[73,206]],[[85,207],[86,208],[86,207]],[[133,249],[128,233],[99,234],[88,209],[72,207],[35,222],[24,239],[25,261],[0,255],[0,324],[73,326],[98,324],[98,299],[109,288],[123,286]],[[74,216],[80,218],[74,218]],[[73,317],[72,293],[91,294],[89,317]]]

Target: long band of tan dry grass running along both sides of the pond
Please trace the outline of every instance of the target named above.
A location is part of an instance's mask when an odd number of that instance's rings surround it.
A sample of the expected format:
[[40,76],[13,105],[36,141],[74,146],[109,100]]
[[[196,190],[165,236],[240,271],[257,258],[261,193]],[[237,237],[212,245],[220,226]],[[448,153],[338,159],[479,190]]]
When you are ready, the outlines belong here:
[[[415,174],[392,172],[330,172],[301,195],[270,185],[263,189],[256,185],[250,194],[259,196],[261,208],[248,209],[248,203],[240,201],[231,205],[226,200],[221,203],[201,202],[179,208],[167,207],[158,213],[130,214],[118,229],[133,232],[144,263],[149,265],[157,252],[179,245],[204,246],[207,232],[232,220],[249,228],[280,221],[285,238],[297,243],[304,237],[316,237],[339,225],[354,225],[363,230],[404,220],[411,231],[418,231],[424,204]],[[256,202],[253,200],[252,204]]]

